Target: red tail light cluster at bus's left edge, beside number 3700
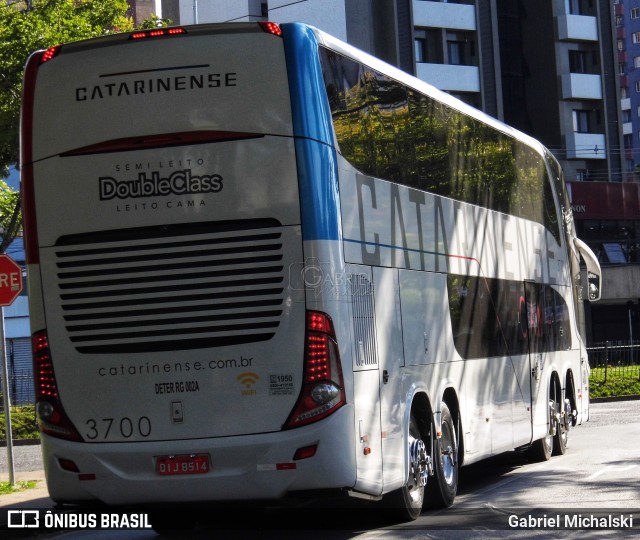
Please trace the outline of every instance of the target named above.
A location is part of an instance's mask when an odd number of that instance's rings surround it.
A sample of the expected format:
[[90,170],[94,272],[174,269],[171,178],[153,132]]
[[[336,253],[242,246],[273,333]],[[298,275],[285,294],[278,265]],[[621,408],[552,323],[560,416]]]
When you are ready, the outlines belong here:
[[40,430],[60,439],[81,441],[82,437],[71,423],[71,420],[69,420],[60,403],[47,333],[44,330],[36,332],[31,338],[31,343],[33,347],[36,413]]

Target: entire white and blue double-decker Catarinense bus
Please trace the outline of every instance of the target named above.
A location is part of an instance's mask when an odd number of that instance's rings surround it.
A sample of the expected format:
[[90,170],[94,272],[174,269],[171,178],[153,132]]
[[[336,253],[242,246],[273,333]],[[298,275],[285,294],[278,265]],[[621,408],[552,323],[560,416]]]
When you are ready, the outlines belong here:
[[600,268],[532,138],[297,23],[65,44],[24,92],[58,503],[342,493],[413,519],[587,420]]

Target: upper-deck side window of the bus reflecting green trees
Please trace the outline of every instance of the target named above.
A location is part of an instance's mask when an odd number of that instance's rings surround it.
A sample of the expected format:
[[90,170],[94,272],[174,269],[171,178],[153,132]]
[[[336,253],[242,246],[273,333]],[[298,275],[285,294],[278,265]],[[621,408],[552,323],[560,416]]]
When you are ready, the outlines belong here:
[[339,150],[362,173],[536,221],[560,241],[533,148],[334,52],[322,64]]

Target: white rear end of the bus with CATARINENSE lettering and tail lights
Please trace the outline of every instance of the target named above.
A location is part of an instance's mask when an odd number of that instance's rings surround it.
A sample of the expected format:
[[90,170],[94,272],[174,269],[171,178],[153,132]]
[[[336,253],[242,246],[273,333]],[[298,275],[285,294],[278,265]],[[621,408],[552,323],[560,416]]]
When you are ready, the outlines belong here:
[[283,41],[258,24],[30,58],[23,200],[54,500],[353,485],[332,322],[289,286],[304,260],[293,133]]

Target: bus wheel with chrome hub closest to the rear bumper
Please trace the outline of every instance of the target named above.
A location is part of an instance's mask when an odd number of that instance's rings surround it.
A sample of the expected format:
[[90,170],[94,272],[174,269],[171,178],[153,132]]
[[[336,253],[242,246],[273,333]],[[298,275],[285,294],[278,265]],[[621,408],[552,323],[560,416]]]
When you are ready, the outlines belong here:
[[422,513],[424,488],[429,476],[429,455],[413,413],[409,420],[409,476],[406,484],[388,496],[389,509],[402,521],[418,519]]

